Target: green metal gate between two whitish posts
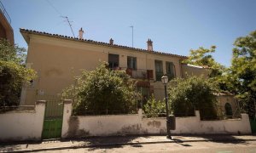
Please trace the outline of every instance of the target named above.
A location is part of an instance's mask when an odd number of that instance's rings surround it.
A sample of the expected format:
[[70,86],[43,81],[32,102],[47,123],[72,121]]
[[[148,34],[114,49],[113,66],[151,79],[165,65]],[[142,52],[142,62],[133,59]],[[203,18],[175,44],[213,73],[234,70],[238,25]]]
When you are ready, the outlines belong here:
[[63,102],[61,100],[46,101],[42,139],[61,138],[62,119]]

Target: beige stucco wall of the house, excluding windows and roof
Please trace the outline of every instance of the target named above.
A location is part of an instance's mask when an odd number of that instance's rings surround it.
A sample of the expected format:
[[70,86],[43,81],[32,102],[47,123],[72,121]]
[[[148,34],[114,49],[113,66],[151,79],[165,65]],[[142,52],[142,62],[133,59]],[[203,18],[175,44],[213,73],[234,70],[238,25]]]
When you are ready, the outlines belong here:
[[[108,61],[108,54],[119,54],[119,67],[127,67],[127,56],[137,57],[137,69],[143,70],[154,70],[154,60],[162,60],[164,74],[166,61],[173,62],[176,77],[181,77],[179,57],[34,34],[29,37],[26,65],[38,72],[38,78],[32,87],[23,88],[21,105],[32,105],[36,99],[60,94],[63,88],[74,83],[73,78],[79,76],[81,70],[94,70],[99,61]],[[154,85],[155,97],[163,99],[163,85],[154,81],[151,85]]]

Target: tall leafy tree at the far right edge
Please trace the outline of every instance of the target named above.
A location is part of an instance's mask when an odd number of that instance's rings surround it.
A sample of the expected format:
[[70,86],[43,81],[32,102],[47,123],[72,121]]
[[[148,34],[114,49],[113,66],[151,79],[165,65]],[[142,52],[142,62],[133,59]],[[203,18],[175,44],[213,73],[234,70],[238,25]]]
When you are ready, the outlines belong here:
[[255,116],[256,99],[256,31],[234,42],[233,57],[229,74],[230,89],[237,94],[245,110]]

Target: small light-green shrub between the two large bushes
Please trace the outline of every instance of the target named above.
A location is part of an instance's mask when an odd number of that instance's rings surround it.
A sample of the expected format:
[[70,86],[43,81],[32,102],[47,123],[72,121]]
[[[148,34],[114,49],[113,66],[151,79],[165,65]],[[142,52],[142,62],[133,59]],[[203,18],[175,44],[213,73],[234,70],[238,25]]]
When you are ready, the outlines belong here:
[[156,101],[154,94],[148,99],[146,105],[143,105],[143,111],[147,117],[165,116],[166,104],[163,101]]

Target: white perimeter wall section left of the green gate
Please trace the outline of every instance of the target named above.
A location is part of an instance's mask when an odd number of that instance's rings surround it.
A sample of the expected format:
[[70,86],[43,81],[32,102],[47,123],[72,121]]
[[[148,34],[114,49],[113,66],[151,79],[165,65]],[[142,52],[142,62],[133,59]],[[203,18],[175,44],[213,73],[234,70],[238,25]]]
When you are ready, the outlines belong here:
[[40,140],[45,101],[38,101],[35,111],[9,111],[0,114],[0,141]]

